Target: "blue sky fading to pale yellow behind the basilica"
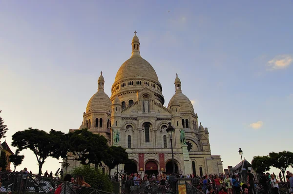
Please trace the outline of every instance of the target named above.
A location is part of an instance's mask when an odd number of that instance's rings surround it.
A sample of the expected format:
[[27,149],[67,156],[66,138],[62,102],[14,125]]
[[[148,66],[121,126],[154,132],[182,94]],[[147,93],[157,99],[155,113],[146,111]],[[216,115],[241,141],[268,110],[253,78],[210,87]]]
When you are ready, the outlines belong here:
[[[79,128],[100,72],[110,96],[137,31],[165,105],[178,73],[224,168],[241,162],[239,148],[249,162],[255,155],[293,152],[292,10],[292,0],[0,0],[6,141],[11,145],[11,136],[28,127]],[[38,173],[36,156],[21,154],[17,170]],[[61,167],[61,159],[45,161],[43,172]]]

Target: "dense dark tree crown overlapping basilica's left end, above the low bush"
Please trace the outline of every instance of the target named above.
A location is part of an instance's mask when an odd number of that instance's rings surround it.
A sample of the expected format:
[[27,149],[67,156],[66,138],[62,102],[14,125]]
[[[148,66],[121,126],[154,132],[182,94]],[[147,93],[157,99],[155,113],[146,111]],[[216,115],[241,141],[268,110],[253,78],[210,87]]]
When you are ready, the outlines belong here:
[[68,151],[77,155],[81,164],[101,164],[109,152],[107,139],[93,134],[87,129],[76,130],[68,134]]

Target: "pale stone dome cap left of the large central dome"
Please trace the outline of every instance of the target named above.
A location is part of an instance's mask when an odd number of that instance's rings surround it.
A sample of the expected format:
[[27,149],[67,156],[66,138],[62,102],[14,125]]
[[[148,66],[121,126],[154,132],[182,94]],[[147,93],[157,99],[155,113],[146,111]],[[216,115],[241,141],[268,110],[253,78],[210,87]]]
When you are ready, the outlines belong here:
[[112,102],[104,90],[98,90],[88,101],[86,113],[95,111],[111,111]]

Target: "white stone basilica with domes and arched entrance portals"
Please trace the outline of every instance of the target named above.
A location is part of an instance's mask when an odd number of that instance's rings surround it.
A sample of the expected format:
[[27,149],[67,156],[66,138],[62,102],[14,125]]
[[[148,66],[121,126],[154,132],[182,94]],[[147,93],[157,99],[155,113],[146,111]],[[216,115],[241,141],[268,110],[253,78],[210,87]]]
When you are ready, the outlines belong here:
[[[105,136],[109,145],[126,149],[132,163],[120,164],[115,171],[170,174],[173,168],[170,132],[166,131],[170,122],[175,129],[172,146],[176,173],[199,176],[223,173],[220,155],[211,155],[208,128],[198,121],[193,105],[181,90],[178,75],[174,80],[175,94],[166,108],[159,78],[140,55],[136,32],[131,46],[131,57],[119,68],[111,97],[104,92],[105,78],[101,72],[98,91],[89,99],[79,129],[87,128]],[[78,129],[69,132],[74,130]],[[70,171],[80,164],[74,155],[68,156],[67,171]],[[101,169],[109,173],[107,166]]]

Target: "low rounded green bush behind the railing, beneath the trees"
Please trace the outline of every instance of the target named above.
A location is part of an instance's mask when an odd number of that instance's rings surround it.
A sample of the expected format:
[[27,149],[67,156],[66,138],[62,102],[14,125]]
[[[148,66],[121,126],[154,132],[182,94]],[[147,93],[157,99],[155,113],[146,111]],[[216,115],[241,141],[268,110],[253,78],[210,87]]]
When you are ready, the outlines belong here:
[[113,189],[112,183],[107,175],[101,172],[100,169],[95,169],[89,165],[75,167],[70,171],[71,175],[83,175],[84,181],[90,184],[94,189],[99,189],[111,192]]

